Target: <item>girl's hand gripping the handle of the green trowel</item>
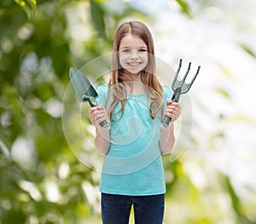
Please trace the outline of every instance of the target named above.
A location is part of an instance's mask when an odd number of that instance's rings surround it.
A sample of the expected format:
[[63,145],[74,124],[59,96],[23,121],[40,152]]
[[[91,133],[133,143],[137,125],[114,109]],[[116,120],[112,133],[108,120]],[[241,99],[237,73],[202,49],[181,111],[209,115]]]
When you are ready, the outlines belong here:
[[102,123],[102,121],[107,120],[107,118],[108,118],[108,114],[105,111],[104,106],[99,105],[96,107],[90,107],[90,110],[89,110],[90,122],[96,125],[97,127],[100,126],[100,123]]

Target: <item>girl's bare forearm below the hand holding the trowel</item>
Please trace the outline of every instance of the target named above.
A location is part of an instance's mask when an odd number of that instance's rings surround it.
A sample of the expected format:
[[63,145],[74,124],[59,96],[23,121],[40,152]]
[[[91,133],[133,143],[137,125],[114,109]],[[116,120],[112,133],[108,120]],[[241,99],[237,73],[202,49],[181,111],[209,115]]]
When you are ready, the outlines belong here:
[[96,128],[95,146],[96,151],[102,155],[107,155],[110,141],[109,141],[109,130],[104,128]]

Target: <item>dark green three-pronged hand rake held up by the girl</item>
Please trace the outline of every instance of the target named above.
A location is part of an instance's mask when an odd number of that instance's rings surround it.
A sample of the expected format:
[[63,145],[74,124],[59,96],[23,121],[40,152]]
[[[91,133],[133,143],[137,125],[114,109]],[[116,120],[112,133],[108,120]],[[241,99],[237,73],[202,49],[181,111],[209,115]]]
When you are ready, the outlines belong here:
[[[189,62],[189,68],[188,68],[187,72],[185,73],[183,79],[179,81],[179,80],[177,80],[177,76],[178,76],[178,72],[180,71],[181,66],[182,66],[182,59],[179,60],[179,66],[177,68],[177,72],[175,74],[175,77],[172,80],[172,90],[173,90],[172,101],[173,102],[178,102],[180,95],[183,95],[183,94],[189,92],[189,89],[192,86],[192,84],[194,83],[195,78],[197,77],[197,75],[200,71],[200,68],[201,68],[201,66],[198,66],[197,72],[195,73],[195,76],[192,79],[192,81],[190,83],[185,83],[185,80],[189,74],[191,62]],[[168,116],[165,115],[165,117],[161,121],[160,128],[166,129],[170,122],[171,122],[171,118],[169,118]]]

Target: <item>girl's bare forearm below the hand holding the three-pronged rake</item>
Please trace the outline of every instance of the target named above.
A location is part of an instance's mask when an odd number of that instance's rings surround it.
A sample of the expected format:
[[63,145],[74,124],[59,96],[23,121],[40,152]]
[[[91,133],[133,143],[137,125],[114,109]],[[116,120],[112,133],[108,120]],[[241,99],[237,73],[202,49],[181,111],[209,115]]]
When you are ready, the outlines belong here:
[[175,143],[174,125],[170,123],[166,129],[161,129],[160,133],[160,151],[162,155],[172,152]]

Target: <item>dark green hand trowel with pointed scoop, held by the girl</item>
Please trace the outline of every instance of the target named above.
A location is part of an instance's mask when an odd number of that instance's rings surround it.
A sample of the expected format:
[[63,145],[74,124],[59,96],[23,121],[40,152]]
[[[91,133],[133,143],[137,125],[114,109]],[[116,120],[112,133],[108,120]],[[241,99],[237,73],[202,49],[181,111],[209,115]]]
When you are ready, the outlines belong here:
[[[98,106],[96,98],[98,94],[93,86],[90,84],[88,78],[85,77],[83,72],[80,72],[78,69],[71,67],[69,70],[69,77],[73,84],[73,89],[77,95],[77,98],[80,103],[89,102],[91,107]],[[100,123],[102,128],[109,128],[108,121],[103,121]]]

